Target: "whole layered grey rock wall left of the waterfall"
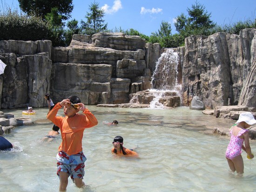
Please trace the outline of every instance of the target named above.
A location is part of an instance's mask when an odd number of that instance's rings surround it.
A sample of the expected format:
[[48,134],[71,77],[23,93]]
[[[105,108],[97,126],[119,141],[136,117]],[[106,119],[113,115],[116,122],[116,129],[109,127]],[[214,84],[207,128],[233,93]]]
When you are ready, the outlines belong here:
[[2,40],[1,107],[46,106],[45,93],[54,102],[75,94],[85,104],[127,103],[130,93],[151,87],[159,56],[159,44],[123,33],[74,35],[68,47]]

